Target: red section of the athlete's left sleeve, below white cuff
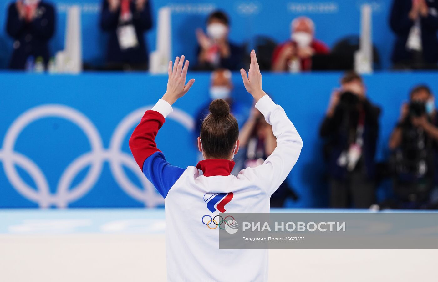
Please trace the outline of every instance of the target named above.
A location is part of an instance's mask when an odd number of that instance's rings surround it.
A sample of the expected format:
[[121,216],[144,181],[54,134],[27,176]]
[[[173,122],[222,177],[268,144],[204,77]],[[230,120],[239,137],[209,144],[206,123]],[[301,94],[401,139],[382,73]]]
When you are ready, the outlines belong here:
[[129,148],[141,170],[145,159],[155,152],[161,152],[155,143],[155,136],[164,122],[161,113],[148,110],[129,139]]

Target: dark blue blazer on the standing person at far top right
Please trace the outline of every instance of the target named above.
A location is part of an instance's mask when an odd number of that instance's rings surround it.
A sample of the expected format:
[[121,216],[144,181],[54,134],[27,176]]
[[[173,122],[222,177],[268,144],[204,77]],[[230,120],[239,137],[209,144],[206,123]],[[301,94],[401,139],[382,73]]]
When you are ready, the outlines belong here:
[[[421,40],[423,56],[427,63],[438,61],[438,0],[426,0],[429,14],[421,18]],[[406,49],[406,41],[414,22],[408,17],[412,8],[412,0],[394,0],[390,17],[390,25],[396,34],[396,43],[392,53],[392,62],[398,63],[412,59],[412,53]]]

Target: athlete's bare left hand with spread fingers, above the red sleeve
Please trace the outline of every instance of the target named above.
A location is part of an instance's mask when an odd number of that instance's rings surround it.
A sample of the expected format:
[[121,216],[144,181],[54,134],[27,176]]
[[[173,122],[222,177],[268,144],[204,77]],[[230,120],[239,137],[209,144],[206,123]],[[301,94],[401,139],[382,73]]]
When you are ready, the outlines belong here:
[[167,90],[162,99],[172,105],[178,98],[184,96],[194,84],[194,79],[189,80],[186,85],[187,69],[189,61],[184,64],[184,55],[175,59],[175,64],[169,61],[169,81],[167,81]]

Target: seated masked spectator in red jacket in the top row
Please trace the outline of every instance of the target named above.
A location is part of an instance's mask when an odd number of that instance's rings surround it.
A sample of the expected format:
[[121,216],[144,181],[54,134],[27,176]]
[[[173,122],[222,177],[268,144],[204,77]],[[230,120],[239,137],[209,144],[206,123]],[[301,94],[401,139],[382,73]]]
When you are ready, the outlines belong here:
[[315,26],[307,17],[291,23],[291,39],[280,44],[272,54],[272,71],[310,71],[312,56],[330,52],[323,42],[314,38]]

